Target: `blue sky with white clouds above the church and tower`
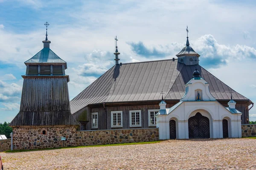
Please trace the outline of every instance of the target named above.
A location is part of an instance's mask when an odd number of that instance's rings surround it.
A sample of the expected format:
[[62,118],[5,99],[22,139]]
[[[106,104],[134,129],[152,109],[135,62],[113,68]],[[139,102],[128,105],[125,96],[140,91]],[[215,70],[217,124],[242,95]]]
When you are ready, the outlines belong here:
[[[176,58],[186,45],[200,65],[256,102],[254,0],[0,0],[0,122],[19,112],[24,62],[50,48],[67,62],[70,100],[114,64]],[[250,111],[256,121],[256,106]]]

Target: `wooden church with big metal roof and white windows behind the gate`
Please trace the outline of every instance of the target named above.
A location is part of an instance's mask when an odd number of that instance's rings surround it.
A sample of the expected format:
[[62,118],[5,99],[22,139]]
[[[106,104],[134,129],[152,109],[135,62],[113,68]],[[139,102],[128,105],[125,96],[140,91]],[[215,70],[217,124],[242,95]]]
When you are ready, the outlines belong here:
[[162,95],[166,108],[180,102],[195,66],[221,105],[228,107],[233,92],[241,124],[249,123],[249,105],[253,102],[201,67],[200,55],[189,46],[188,37],[177,59],[119,63],[117,45],[114,54],[116,64],[70,101],[71,113],[81,130],[156,127]]

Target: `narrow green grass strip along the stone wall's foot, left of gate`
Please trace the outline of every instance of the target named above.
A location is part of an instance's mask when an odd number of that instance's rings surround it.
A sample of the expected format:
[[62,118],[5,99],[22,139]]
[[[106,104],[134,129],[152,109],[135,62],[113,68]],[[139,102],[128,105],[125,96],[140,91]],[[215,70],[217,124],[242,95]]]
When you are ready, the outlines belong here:
[[154,143],[158,143],[158,142],[160,142],[160,141],[121,143],[121,144],[103,144],[103,145],[89,145],[89,146],[75,146],[75,147],[58,147],[58,148],[45,148],[45,149],[35,149],[35,150],[6,150],[5,153],[31,152],[31,151],[40,151],[40,150],[69,149],[69,148],[81,148],[81,147],[119,146],[119,145],[131,145],[131,144],[154,144]]

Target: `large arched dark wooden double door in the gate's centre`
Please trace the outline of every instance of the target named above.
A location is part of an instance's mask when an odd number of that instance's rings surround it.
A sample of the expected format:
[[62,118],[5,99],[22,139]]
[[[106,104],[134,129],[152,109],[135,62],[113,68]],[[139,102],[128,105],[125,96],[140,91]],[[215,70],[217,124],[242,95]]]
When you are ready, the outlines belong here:
[[204,139],[210,138],[210,122],[201,113],[196,113],[195,116],[189,118],[189,138]]

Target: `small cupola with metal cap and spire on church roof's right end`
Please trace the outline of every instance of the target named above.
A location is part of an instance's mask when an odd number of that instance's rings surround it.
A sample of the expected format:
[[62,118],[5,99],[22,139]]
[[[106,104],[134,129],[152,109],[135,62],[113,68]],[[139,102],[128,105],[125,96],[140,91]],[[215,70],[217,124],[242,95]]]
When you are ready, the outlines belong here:
[[199,54],[197,54],[192,47],[189,46],[189,37],[188,37],[188,26],[186,28],[187,31],[187,40],[186,40],[186,46],[178,53],[176,56],[178,57],[178,62],[183,63],[185,65],[197,65],[199,64],[200,57]]

